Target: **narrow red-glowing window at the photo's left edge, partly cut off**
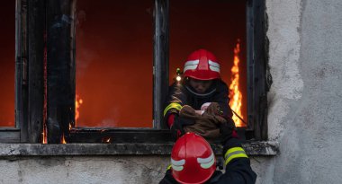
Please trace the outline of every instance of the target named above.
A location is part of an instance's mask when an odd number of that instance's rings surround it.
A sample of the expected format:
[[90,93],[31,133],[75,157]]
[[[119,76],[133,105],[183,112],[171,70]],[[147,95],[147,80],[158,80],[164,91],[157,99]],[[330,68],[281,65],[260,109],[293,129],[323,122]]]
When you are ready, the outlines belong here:
[[[17,10],[17,11],[16,11]],[[1,48],[0,58],[0,85],[2,86],[2,92],[0,92],[0,99],[2,104],[0,105],[0,140],[1,142],[20,142],[21,132],[23,124],[19,123],[21,119],[21,104],[18,101],[17,96],[20,94],[18,90],[18,83],[21,83],[22,76],[19,76],[18,70],[24,67],[18,64],[21,60],[22,53],[18,48],[18,41],[22,37],[19,27],[23,18],[19,12],[24,12],[21,4],[15,4],[15,0],[6,1],[2,5],[2,11],[0,12],[2,23],[1,29],[1,42],[3,48]],[[16,17],[18,17],[16,19]],[[16,77],[14,77],[16,76]],[[23,133],[24,134],[24,133]]]

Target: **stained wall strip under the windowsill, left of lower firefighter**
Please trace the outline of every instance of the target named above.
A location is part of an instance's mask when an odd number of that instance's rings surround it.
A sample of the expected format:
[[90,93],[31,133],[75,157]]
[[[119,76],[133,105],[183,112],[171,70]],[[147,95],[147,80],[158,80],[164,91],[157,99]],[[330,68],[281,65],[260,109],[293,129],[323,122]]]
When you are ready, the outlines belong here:
[[21,157],[0,160],[0,183],[157,183],[166,156]]

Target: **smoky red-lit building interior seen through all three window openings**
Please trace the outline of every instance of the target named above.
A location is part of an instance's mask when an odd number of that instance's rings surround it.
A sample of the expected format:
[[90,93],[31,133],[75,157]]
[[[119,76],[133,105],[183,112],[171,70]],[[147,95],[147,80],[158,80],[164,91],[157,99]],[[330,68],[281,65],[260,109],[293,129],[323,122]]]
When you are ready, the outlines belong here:
[[[1,127],[14,127],[14,6],[5,1],[0,12]],[[76,127],[152,127],[153,8],[152,0],[77,1],[76,94],[82,104]],[[169,36],[170,83],[193,50],[206,48],[220,61],[229,85],[240,40],[239,86],[247,120],[246,1],[172,0]]]

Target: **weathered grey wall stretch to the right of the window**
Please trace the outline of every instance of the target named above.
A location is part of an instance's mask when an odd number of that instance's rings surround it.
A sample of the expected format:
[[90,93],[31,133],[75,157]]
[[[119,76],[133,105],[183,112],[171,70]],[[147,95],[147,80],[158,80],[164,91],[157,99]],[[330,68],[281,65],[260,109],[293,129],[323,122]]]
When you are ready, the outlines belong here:
[[[260,183],[342,182],[342,1],[266,0],[274,79]],[[260,165],[258,167],[261,167]]]

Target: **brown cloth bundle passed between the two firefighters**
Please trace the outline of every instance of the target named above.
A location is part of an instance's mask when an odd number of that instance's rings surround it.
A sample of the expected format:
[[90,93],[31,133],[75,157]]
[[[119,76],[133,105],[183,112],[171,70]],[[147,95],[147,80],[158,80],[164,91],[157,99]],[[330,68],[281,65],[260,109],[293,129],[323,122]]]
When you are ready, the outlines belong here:
[[217,102],[204,103],[201,110],[194,110],[191,106],[184,105],[179,112],[180,118],[194,120],[193,125],[185,126],[185,132],[193,132],[213,141],[220,136],[220,124],[227,120],[221,116],[220,105]]

